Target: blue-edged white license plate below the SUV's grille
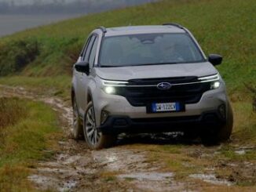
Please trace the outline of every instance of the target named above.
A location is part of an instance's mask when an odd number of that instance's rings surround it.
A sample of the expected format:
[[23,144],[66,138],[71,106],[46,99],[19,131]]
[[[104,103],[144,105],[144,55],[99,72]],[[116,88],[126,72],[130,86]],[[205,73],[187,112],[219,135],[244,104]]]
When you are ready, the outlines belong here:
[[168,112],[180,110],[180,103],[152,103],[152,112]]

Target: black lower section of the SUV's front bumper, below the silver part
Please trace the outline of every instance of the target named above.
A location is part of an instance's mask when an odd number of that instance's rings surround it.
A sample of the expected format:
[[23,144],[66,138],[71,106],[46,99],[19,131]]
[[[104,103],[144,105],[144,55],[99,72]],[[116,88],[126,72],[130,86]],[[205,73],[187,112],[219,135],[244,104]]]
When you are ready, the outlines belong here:
[[141,132],[177,132],[203,127],[218,129],[225,124],[218,110],[207,111],[201,115],[169,118],[129,118],[128,116],[110,116],[99,127],[104,134],[141,133]]

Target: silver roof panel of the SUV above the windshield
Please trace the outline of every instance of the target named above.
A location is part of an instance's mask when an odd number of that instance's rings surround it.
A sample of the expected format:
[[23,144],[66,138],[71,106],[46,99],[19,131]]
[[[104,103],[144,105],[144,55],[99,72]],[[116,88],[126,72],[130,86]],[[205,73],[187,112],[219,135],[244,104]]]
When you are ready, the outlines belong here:
[[174,25],[148,25],[106,28],[106,37],[126,34],[152,34],[152,33],[185,33],[181,27]]

